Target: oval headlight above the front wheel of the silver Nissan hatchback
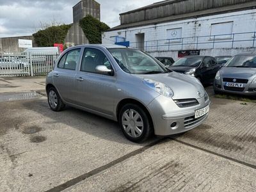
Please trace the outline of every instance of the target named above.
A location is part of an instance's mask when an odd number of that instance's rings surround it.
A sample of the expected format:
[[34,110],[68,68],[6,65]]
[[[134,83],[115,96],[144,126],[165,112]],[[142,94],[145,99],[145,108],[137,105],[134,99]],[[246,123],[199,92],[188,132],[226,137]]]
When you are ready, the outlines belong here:
[[149,88],[152,88],[161,95],[164,95],[166,97],[173,97],[173,91],[171,90],[171,88],[163,83],[154,81],[152,79],[143,79],[143,83],[145,83]]

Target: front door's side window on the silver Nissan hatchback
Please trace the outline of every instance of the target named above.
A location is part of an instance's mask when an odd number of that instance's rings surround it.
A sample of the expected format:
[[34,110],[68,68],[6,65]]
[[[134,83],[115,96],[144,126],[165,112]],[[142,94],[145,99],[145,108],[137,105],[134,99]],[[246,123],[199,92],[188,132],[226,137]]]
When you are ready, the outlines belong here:
[[97,73],[98,65],[105,65],[108,69],[112,69],[108,58],[102,51],[93,48],[84,49],[81,71]]

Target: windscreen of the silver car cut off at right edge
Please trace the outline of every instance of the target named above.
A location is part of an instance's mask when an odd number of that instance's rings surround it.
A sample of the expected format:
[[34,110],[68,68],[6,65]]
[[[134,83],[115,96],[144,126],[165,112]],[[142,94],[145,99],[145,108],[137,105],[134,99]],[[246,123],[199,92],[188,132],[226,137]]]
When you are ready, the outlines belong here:
[[225,67],[253,67],[256,68],[256,55],[234,56]]

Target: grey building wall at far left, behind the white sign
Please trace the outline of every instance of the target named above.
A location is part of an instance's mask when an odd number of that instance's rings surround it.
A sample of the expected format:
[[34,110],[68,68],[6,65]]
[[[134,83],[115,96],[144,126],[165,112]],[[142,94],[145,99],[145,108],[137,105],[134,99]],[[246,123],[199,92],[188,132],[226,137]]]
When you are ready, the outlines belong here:
[[32,40],[33,47],[37,47],[33,36],[14,36],[0,38],[0,54],[23,52],[26,48],[19,48],[19,39]]

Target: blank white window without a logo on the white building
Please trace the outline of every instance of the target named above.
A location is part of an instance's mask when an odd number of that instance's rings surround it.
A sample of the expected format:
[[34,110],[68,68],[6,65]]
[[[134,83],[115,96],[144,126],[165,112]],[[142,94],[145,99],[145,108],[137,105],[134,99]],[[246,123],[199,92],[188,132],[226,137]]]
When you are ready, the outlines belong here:
[[211,25],[211,39],[232,38],[233,22],[221,22]]

